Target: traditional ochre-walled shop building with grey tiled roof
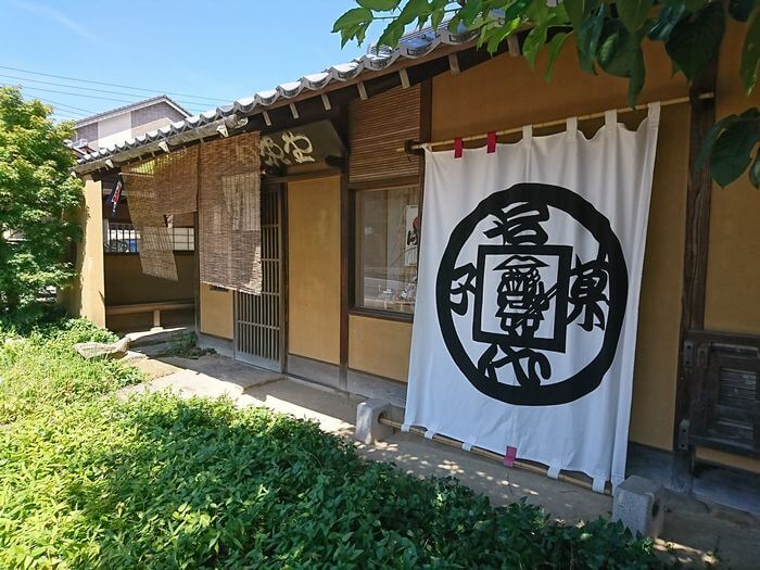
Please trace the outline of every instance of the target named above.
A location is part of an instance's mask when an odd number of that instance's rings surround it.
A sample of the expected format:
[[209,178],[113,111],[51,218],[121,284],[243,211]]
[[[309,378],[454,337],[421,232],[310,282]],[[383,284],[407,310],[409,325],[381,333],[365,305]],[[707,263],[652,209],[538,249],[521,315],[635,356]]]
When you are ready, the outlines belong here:
[[[689,174],[701,144],[695,138],[704,130],[701,114],[725,116],[747,105],[735,80],[739,39],[726,34],[710,87],[714,99],[702,93],[705,99],[691,103],[661,46],[647,45],[639,101],[677,104],[663,106],[660,118],[629,439],[636,444],[632,453],[644,458],[632,466],[661,466],[668,474],[671,458],[686,457],[674,465],[730,466],[740,470],[739,481],[749,481],[747,473],[760,472],[760,200],[746,179],[711,192],[705,177]],[[202,153],[224,137],[243,140],[257,131],[265,293],[201,282],[193,273],[200,341],[341,390],[366,394],[368,385],[384,385],[388,393],[403,392],[417,297],[418,218],[427,223],[425,215],[435,215],[423,214],[420,200],[423,162],[404,149],[411,150],[413,141],[443,141],[451,149],[455,138],[493,131],[511,132],[502,141],[514,142],[525,125],[566,117],[580,117],[581,128],[593,135],[603,124],[599,113],[628,106],[626,81],[580,71],[572,49],[546,84],[522,59],[491,55],[474,43],[471,35],[445,29],[418,34],[397,50],[334,65],[87,154],[76,173],[86,181],[91,215],[85,216],[80,281],[69,306],[103,325],[112,303],[102,280],[103,180],[152,156],[198,148]],[[587,121],[591,114],[596,118]],[[635,127],[641,118],[621,113],[620,121]],[[560,123],[540,134],[562,130]],[[232,168],[241,156],[217,156],[230,165],[217,185],[225,194],[233,195],[242,180]],[[213,186],[199,181],[200,195],[219,195]],[[617,188],[608,190],[612,195]],[[227,215],[229,203],[219,199],[213,205]],[[203,212],[199,216],[202,223]],[[229,243],[218,245],[230,251]],[[420,246],[425,254],[425,241]],[[195,268],[201,270],[207,267]],[[148,281],[130,275],[123,277],[124,287],[145,287]],[[150,279],[155,288],[170,283]]]

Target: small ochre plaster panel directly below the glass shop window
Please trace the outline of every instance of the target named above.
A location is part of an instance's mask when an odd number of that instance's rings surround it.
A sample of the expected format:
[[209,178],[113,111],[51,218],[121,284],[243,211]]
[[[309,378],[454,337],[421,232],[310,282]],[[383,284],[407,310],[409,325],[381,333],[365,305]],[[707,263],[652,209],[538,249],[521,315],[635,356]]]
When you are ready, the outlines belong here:
[[410,344],[410,322],[349,318],[349,368],[406,382]]

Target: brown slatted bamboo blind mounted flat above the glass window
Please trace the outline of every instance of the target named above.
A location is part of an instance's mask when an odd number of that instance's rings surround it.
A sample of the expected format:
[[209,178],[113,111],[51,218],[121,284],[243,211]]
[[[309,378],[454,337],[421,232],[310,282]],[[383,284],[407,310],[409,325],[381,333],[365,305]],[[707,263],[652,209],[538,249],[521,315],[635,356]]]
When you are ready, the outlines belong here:
[[401,154],[396,148],[407,140],[419,140],[421,88],[397,87],[366,100],[351,103],[352,182],[417,176],[420,159]]

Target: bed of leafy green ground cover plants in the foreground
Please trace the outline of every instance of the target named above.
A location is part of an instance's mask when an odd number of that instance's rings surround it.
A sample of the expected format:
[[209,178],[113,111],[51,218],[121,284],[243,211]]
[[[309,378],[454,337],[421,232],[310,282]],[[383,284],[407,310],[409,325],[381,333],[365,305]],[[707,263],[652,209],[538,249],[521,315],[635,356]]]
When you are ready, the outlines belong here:
[[662,566],[619,525],[494,508],[266,408],[117,397],[139,376],[79,359],[109,339],[80,321],[1,337],[0,568]]

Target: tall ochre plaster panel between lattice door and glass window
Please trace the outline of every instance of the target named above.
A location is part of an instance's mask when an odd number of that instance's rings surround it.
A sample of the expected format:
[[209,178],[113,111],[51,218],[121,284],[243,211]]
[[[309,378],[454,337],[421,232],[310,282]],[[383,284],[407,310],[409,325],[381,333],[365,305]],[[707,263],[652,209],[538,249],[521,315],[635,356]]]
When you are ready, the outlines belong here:
[[340,189],[337,176],[288,185],[288,352],[340,363]]

